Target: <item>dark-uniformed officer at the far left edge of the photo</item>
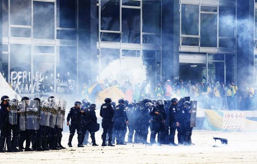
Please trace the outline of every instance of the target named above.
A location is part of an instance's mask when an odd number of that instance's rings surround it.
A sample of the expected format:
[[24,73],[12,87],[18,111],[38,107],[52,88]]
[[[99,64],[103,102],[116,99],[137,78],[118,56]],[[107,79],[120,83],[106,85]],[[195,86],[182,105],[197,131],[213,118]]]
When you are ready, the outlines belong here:
[[4,153],[4,143],[6,139],[7,143],[7,152],[14,152],[12,149],[12,136],[11,136],[11,127],[9,123],[9,97],[2,96],[1,97],[1,104],[0,104],[0,152]]

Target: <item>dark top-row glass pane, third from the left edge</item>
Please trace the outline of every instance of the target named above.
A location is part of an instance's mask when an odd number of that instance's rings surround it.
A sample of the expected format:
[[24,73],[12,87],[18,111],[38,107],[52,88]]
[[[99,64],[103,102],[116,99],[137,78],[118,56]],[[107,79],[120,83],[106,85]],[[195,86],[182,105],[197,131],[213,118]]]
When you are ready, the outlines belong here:
[[57,27],[76,28],[76,0],[57,0],[56,3],[59,6]]

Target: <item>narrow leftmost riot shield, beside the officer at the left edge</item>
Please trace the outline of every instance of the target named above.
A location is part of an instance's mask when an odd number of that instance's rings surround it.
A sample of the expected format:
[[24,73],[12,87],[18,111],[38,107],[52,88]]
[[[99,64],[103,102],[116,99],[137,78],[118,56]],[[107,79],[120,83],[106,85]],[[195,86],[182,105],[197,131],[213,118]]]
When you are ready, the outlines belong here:
[[[11,97],[11,96],[10,96]],[[11,97],[11,101],[9,102],[9,123],[10,124],[17,124],[17,120],[18,120],[18,96],[15,95],[14,97]]]

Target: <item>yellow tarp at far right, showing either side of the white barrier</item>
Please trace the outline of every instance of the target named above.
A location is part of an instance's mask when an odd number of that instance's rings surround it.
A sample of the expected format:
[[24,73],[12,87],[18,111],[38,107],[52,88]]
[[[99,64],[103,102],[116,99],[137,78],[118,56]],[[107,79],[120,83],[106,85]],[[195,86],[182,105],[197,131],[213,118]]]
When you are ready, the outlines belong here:
[[[223,116],[218,114],[215,110],[205,109],[208,122],[217,129],[222,129]],[[257,130],[257,122],[249,119],[245,120],[245,127],[241,130],[252,131]]]

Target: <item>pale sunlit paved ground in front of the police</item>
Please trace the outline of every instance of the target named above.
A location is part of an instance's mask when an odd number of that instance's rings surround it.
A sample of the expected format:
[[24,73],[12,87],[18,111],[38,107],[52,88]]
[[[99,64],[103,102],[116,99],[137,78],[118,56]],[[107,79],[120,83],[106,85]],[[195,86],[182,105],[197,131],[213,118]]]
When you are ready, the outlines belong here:
[[[101,132],[97,132],[100,144]],[[143,144],[102,147],[74,146],[61,151],[0,154],[0,164],[257,164],[257,132],[193,131],[193,146],[146,146]],[[213,137],[228,145],[213,147]],[[66,145],[68,134],[64,134]],[[76,139],[76,136],[74,136]]]

